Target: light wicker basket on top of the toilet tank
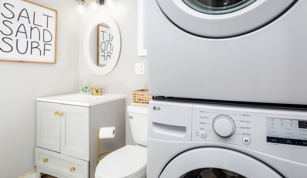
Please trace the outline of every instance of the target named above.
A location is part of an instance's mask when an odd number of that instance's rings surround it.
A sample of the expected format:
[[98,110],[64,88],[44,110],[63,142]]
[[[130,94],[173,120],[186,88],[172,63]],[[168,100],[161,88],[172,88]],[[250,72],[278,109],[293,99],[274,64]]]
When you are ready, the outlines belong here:
[[134,90],[131,95],[131,104],[133,106],[148,106],[152,98],[153,96],[149,94],[148,89]]

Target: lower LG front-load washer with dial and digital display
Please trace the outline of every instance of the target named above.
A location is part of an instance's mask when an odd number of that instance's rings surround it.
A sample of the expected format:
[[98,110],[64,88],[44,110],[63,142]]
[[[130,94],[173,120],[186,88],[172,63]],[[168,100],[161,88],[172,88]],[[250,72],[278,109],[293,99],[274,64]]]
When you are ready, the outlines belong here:
[[305,111],[157,100],[149,108],[148,178],[306,177]]

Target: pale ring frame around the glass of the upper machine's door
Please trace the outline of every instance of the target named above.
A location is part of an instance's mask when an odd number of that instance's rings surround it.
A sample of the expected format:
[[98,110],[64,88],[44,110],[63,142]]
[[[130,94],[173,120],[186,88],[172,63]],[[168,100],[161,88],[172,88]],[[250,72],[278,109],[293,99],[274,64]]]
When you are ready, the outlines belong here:
[[229,38],[252,32],[271,22],[295,0],[257,0],[237,11],[208,14],[182,0],[157,0],[161,10],[178,27],[206,38]]

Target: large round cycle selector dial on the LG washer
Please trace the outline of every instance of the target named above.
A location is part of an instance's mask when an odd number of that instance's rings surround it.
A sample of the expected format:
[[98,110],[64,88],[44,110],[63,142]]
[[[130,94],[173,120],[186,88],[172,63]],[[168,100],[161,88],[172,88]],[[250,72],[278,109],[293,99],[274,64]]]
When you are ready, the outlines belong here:
[[213,130],[220,137],[230,137],[235,133],[235,122],[229,116],[219,115],[213,120]]

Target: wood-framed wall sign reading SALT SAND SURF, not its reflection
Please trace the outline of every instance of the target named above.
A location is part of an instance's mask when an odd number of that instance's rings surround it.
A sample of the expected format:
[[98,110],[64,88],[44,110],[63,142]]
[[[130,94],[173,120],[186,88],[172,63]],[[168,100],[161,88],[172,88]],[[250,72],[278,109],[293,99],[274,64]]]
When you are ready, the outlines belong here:
[[[28,0],[0,0],[0,6],[6,14],[0,17],[0,23],[5,24],[2,30],[6,28],[7,33],[0,33],[0,44],[6,44],[3,49],[0,45],[0,61],[56,64],[57,10]],[[49,41],[45,41],[45,34]],[[27,41],[26,45],[18,45],[18,40]]]

